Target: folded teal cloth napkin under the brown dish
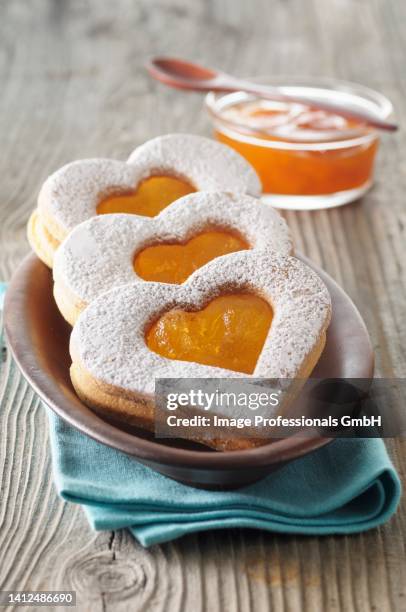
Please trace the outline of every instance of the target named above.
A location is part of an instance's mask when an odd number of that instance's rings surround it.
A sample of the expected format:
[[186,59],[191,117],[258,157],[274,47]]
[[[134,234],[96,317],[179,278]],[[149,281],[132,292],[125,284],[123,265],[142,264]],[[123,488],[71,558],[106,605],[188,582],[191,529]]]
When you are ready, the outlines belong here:
[[226,527],[355,533],[387,521],[400,499],[379,439],[335,440],[243,489],[205,491],[161,476],[46,410],[59,494],[82,504],[94,529],[128,527],[144,546]]

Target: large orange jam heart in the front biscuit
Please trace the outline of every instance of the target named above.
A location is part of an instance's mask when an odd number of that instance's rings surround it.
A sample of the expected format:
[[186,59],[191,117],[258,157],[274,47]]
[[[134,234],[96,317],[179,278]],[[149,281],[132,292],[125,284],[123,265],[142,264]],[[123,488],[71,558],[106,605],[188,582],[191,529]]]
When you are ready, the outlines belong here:
[[169,310],[149,328],[146,343],[167,359],[252,374],[272,317],[268,302],[257,295],[221,295],[199,311]]

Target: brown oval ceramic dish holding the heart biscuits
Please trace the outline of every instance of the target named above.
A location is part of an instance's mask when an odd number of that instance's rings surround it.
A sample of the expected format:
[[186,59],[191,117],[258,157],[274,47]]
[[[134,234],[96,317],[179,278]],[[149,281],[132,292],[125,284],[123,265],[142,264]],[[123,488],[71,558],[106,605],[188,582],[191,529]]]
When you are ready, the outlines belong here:
[[[370,378],[373,352],[365,325],[343,290],[327,274],[317,271],[331,293],[333,319],[312,376]],[[103,420],[73,390],[69,378],[70,327],[55,305],[51,272],[35,255],[23,261],[11,281],[4,318],[17,364],[52,410],[83,433],[175,480],[205,488],[243,486],[330,441],[321,436],[292,436],[256,449],[220,453],[182,441],[172,441],[169,446],[141,430],[126,431],[123,425]]]

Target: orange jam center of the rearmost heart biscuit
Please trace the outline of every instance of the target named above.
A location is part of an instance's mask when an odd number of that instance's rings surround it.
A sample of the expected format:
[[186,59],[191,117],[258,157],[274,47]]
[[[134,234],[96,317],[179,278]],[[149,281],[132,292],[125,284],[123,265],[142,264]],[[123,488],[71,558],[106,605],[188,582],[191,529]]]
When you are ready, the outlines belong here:
[[136,191],[104,198],[97,206],[97,214],[127,213],[155,217],[175,200],[195,191],[192,185],[173,176],[152,176],[142,181]]

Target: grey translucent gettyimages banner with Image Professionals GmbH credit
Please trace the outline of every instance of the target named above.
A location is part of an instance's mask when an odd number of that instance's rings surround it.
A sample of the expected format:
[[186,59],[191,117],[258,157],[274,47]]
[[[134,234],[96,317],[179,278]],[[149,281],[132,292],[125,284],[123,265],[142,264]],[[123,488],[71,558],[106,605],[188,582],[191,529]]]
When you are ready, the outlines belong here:
[[400,379],[158,379],[156,437],[394,437],[406,431]]

